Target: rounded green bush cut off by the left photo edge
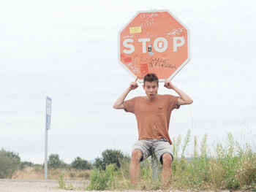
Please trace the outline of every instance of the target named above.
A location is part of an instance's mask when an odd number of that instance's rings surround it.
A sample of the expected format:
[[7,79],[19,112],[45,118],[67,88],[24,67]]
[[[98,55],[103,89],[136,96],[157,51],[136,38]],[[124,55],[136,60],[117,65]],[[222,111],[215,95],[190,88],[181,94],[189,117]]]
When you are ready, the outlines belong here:
[[0,150],[0,178],[11,178],[20,164],[20,157],[4,149]]

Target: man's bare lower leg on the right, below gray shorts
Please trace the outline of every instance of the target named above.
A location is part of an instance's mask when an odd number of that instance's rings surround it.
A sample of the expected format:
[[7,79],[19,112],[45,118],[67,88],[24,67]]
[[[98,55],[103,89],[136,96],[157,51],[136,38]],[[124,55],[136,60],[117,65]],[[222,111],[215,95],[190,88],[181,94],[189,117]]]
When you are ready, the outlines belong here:
[[162,155],[162,184],[167,186],[170,183],[172,176],[172,163],[173,158],[169,153]]

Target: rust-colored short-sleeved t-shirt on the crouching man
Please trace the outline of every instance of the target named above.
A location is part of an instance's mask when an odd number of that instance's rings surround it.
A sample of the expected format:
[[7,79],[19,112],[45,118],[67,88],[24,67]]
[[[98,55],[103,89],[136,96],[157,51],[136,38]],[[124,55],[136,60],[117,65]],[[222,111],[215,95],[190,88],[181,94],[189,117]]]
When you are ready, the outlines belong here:
[[178,109],[178,96],[157,95],[150,101],[146,96],[138,96],[124,101],[124,110],[135,114],[138,122],[140,139],[167,139],[170,145],[168,130],[170,114],[173,109]]

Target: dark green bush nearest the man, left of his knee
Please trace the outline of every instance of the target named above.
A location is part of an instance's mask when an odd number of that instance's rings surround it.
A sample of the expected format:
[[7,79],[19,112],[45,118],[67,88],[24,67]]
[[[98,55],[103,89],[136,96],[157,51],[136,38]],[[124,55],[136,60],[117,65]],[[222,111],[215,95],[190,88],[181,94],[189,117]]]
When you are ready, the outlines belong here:
[[124,159],[124,153],[121,150],[105,150],[102,152],[102,158],[96,158],[94,166],[97,169],[105,170],[106,166],[116,164],[116,167],[121,166],[120,162]]

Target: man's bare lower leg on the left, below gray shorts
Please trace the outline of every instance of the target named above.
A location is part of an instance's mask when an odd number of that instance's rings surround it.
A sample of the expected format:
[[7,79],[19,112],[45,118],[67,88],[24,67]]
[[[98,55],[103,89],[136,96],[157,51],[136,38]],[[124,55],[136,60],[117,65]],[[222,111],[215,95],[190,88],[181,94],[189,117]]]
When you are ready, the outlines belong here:
[[140,158],[142,153],[140,150],[132,151],[131,164],[129,166],[129,179],[131,180],[132,185],[138,183],[140,179]]

